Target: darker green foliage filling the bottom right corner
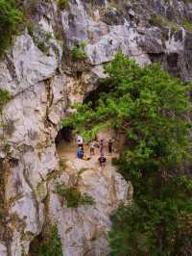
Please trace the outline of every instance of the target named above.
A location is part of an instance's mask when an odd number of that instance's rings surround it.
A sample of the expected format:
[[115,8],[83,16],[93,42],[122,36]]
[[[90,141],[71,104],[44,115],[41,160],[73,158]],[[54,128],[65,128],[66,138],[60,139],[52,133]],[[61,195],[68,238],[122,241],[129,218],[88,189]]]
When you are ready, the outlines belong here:
[[[111,215],[108,242],[112,256],[184,256],[192,252],[192,181],[171,178],[151,193],[136,196]],[[144,189],[144,188],[142,188]]]

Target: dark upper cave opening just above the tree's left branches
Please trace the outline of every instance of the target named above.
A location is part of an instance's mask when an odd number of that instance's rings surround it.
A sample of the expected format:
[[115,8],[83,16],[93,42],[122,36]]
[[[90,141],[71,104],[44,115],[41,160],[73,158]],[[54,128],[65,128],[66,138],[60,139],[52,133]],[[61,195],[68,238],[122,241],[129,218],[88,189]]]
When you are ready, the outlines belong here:
[[95,90],[91,90],[90,92],[86,93],[86,95],[84,96],[84,104],[91,102],[92,108],[94,109],[97,107],[97,102],[98,102],[98,99],[100,98],[100,95],[104,92],[108,93],[110,91],[111,91],[111,86],[110,86],[109,80],[107,83],[101,81]]

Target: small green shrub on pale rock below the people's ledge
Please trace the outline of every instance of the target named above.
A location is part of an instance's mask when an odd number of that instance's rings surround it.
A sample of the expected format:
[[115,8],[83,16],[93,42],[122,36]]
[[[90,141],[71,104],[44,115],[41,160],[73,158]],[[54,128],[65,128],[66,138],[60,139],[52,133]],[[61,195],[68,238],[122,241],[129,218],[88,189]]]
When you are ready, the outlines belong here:
[[82,204],[93,205],[95,203],[90,195],[82,194],[75,186],[65,189],[61,184],[57,186],[57,192],[65,198],[67,207],[77,208]]

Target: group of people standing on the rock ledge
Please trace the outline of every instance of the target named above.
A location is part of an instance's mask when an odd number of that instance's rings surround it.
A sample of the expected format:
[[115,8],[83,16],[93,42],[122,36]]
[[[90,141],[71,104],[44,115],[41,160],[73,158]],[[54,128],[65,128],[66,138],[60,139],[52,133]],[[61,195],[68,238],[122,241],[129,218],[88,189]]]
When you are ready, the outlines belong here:
[[[77,136],[77,143],[78,143],[78,150],[77,150],[77,158],[78,159],[84,159],[84,139],[82,136]],[[95,155],[95,141],[89,142],[89,150],[90,150],[90,156]],[[99,157],[99,163],[102,168],[106,166],[107,158],[105,157],[105,141],[102,139],[99,143],[99,150],[100,150],[100,157]],[[113,151],[113,141],[108,141],[108,153],[112,153]],[[89,157],[90,159],[90,157]],[[86,158],[86,160],[88,160]]]

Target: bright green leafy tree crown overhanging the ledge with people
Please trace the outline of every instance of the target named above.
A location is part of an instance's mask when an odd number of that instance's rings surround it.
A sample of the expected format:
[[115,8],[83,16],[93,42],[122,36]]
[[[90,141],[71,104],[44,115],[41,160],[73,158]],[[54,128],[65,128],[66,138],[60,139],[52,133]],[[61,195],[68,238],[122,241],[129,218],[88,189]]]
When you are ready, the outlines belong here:
[[140,67],[118,53],[105,68],[109,93],[91,104],[78,105],[77,112],[63,120],[82,131],[87,140],[106,126],[124,133],[129,147],[125,152],[132,170],[180,166],[187,155],[191,109],[187,86],[163,71],[159,64]]

